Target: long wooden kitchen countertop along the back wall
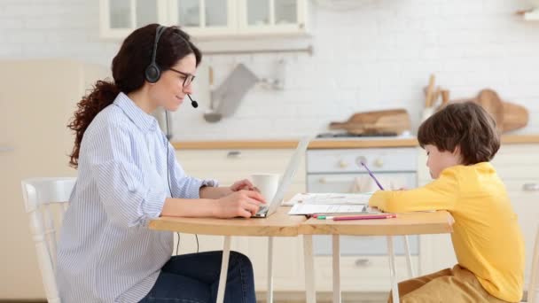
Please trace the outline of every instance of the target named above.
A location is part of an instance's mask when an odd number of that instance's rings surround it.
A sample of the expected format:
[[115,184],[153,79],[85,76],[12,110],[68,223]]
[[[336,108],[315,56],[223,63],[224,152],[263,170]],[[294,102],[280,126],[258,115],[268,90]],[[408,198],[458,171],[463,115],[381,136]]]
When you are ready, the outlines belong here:
[[[229,140],[229,141],[178,141],[176,150],[226,150],[226,149],[293,149],[297,140]],[[502,144],[539,144],[539,135],[504,135]],[[376,139],[319,139],[309,144],[309,149],[414,147],[415,137]]]

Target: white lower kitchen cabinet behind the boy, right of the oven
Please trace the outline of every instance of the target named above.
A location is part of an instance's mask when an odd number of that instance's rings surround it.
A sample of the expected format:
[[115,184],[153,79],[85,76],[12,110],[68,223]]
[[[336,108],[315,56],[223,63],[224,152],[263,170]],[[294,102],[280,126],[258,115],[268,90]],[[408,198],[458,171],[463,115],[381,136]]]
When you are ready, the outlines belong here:
[[[531,270],[531,256],[539,218],[539,144],[502,144],[493,166],[505,184],[513,210],[519,217],[520,228],[526,245],[525,285]],[[430,182],[426,168],[426,153],[419,152],[419,185]],[[423,264],[423,273],[427,274],[442,268],[452,267],[457,260],[449,235],[427,236],[421,241],[428,253],[428,260]],[[512,249],[507,247],[507,249]],[[525,287],[527,288],[527,287]]]

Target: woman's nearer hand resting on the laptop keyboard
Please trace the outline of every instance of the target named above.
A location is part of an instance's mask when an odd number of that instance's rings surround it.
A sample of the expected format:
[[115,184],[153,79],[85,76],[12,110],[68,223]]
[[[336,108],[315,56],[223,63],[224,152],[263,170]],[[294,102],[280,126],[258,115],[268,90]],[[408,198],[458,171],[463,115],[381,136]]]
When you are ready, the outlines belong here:
[[217,218],[250,218],[265,204],[262,195],[254,190],[238,190],[217,200],[215,217]]

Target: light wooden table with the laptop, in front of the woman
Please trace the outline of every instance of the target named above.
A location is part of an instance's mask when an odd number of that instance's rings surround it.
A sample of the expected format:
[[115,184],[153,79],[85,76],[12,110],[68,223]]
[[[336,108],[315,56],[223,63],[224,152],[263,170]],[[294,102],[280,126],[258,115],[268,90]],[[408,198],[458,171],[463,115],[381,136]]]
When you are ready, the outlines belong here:
[[267,302],[273,301],[273,237],[296,237],[301,223],[307,221],[302,215],[288,215],[290,206],[281,206],[268,218],[214,219],[160,217],[150,221],[150,229],[170,230],[189,234],[224,236],[223,262],[217,290],[217,302],[224,299],[226,276],[229,267],[230,237],[268,237],[268,294]]

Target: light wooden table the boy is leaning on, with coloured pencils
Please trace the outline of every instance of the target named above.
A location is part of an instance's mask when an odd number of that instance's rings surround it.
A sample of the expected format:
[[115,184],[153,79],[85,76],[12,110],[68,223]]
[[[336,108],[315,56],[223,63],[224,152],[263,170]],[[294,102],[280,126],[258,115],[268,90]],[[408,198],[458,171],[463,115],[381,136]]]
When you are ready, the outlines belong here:
[[[453,217],[445,211],[434,213],[397,214],[396,218],[378,220],[332,221],[309,219],[301,223],[305,257],[305,291],[308,303],[316,302],[312,235],[332,235],[333,241],[333,302],[340,302],[340,236],[387,236],[387,250],[393,301],[398,303],[396,272],[394,266],[393,236],[442,234],[452,231]],[[411,272],[410,250],[405,237],[408,271]]]

